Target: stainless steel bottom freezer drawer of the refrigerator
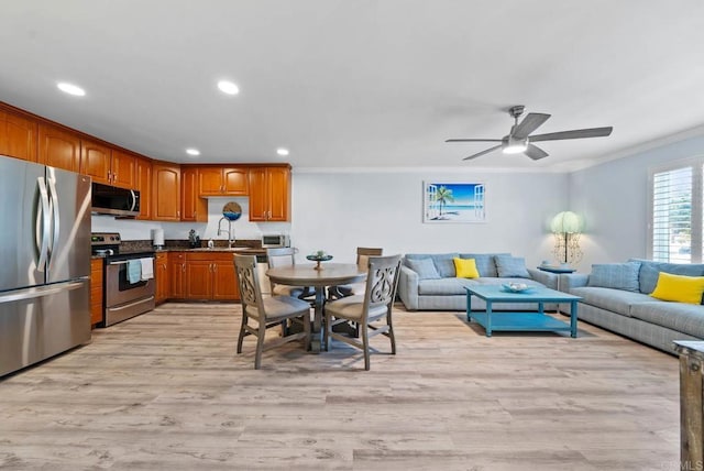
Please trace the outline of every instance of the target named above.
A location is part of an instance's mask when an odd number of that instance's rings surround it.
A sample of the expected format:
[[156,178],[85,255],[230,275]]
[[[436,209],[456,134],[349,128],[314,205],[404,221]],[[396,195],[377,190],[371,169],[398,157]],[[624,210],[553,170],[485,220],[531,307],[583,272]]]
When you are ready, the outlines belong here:
[[0,376],[88,341],[88,280],[0,294]]

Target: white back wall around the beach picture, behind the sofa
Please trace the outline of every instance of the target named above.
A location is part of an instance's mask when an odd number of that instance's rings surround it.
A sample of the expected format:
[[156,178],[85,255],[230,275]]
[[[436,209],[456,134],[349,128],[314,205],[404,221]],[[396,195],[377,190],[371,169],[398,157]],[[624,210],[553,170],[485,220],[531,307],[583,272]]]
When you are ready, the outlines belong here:
[[[487,222],[422,223],[422,182],[484,182]],[[385,253],[512,252],[551,259],[552,216],[566,209],[565,174],[457,172],[294,173],[292,242],[353,262],[356,247]]]

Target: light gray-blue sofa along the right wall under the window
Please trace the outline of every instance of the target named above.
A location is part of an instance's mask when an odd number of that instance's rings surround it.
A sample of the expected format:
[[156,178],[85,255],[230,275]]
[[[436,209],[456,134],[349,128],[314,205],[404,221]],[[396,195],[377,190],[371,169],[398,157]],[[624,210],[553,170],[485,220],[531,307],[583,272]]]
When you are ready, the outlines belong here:
[[704,276],[704,264],[638,259],[596,264],[588,275],[561,275],[560,289],[582,297],[579,319],[675,353],[673,340],[704,339],[704,306],[651,297],[660,272]]

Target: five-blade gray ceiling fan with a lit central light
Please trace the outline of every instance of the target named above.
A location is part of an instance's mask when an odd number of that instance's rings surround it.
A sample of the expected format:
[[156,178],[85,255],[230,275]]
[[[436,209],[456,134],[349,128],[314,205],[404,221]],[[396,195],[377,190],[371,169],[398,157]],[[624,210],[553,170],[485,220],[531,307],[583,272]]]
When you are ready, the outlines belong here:
[[448,139],[444,142],[501,142],[501,144],[490,147],[480,153],[464,157],[464,161],[476,158],[490,152],[501,149],[505,154],[526,154],[534,161],[548,156],[548,153],[542,149],[534,145],[532,142],[540,141],[560,141],[563,139],[583,139],[583,138],[604,138],[612,133],[614,128],[591,128],[591,129],[575,129],[572,131],[550,132],[548,134],[534,134],[530,135],[536,129],[538,129],[543,122],[550,118],[550,114],[543,113],[528,113],[526,118],[518,124],[518,117],[524,113],[522,105],[517,105],[508,109],[508,113],[514,118],[514,125],[510,127],[508,135],[502,139]]

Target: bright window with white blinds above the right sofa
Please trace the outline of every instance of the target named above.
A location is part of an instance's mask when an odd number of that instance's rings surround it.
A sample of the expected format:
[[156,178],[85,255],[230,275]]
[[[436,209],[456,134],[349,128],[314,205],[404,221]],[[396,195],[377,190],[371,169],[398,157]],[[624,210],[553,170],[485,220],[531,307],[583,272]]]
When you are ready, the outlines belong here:
[[650,259],[701,262],[703,163],[680,162],[650,172]]

